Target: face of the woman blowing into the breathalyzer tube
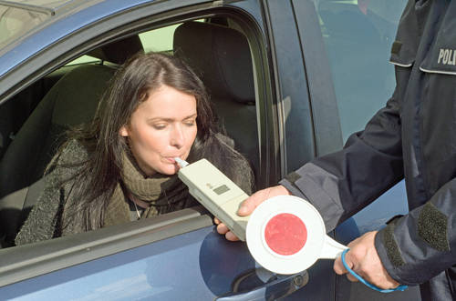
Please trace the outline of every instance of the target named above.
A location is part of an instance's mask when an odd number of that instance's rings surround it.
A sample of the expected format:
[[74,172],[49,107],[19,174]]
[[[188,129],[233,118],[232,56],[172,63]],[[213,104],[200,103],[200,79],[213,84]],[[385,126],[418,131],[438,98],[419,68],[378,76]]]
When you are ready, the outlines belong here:
[[119,134],[129,140],[131,153],[147,175],[174,175],[174,157],[189,156],[197,132],[196,98],[168,85],[150,92]]

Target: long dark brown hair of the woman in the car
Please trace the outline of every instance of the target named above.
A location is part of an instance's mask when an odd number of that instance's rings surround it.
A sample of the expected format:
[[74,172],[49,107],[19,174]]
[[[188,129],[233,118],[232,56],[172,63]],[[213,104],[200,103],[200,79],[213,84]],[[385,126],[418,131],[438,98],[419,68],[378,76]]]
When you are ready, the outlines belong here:
[[[69,221],[60,224],[61,227],[75,218],[82,219],[78,223],[86,231],[103,226],[110,197],[121,180],[122,156],[129,150],[125,138],[119,135],[119,129],[130,122],[138,105],[161,85],[196,98],[198,132],[188,161],[206,157],[235,183],[251,191],[250,168],[248,164],[245,166],[246,161],[229,145],[226,137],[218,133],[209,95],[200,78],[179,58],[157,53],[139,54],[131,57],[113,76],[101,97],[93,122],[68,133],[67,144],[78,141],[87,149],[88,159],[71,163],[79,167],[78,173],[67,179],[74,181],[72,193],[76,196],[72,198],[77,199],[78,204],[68,208],[66,216]],[[67,144],[62,145],[57,156],[62,154]],[[240,169],[233,166],[234,161],[239,162],[241,166],[237,167]]]

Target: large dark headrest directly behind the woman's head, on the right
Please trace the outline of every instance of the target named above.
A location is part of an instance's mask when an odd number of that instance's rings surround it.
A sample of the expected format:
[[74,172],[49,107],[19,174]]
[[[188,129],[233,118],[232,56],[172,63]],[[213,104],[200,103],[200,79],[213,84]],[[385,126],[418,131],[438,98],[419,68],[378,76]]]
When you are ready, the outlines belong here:
[[247,39],[238,31],[187,22],[174,32],[174,55],[202,77],[212,96],[254,104],[254,73]]

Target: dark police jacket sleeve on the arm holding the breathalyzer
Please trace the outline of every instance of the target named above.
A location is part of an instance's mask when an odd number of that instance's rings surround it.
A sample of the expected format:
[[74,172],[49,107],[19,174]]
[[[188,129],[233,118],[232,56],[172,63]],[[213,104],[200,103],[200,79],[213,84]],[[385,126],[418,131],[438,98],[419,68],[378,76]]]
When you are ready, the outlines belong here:
[[341,151],[321,156],[280,184],[304,197],[331,231],[403,178],[397,92]]

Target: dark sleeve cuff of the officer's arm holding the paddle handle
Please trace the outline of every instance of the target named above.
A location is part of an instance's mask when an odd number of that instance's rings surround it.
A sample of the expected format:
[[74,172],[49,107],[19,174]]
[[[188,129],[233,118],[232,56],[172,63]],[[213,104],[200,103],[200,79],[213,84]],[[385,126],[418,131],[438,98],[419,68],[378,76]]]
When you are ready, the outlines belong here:
[[456,178],[378,232],[378,256],[401,284],[417,285],[456,264]]

